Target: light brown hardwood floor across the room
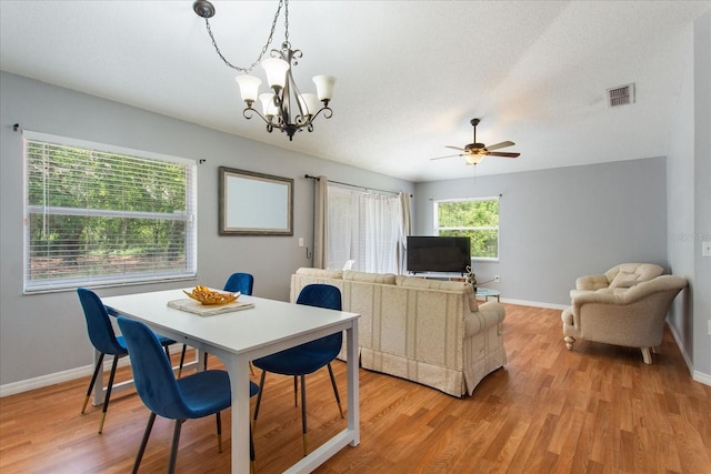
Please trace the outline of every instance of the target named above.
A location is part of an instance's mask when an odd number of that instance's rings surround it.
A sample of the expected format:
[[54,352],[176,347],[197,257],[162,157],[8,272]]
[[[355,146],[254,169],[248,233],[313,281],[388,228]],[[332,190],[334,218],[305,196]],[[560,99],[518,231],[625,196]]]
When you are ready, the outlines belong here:
[[[361,370],[361,444],[317,472],[711,473],[711,387],[691,379],[669,331],[645,365],[639,350],[580,341],[568,351],[560,311],[505,306],[509,363],[471,397]],[[220,367],[217,357],[210,363]],[[344,395],[346,364],[334,371]],[[79,414],[87,384],[0,400],[0,472],[130,472],[149,412],[134,392],[120,393],[97,434],[101,409]],[[326,371],[307,386],[314,447],[346,421]],[[254,432],[258,473],[300,458],[300,414],[291,379],[270,374]],[[222,420],[222,453],[214,417],[183,424],[178,472],[229,472],[229,413]],[[164,472],[171,432],[172,422],[157,420],[141,472]]]

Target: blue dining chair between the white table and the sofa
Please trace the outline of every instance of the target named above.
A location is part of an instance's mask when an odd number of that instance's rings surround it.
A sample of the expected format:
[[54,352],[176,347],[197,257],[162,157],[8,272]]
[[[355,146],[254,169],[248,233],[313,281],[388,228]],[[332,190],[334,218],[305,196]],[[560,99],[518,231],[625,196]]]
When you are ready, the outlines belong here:
[[[299,293],[297,304],[341,311],[341,291],[332,285],[320,283],[309,284]],[[336,334],[330,334],[316,341],[310,341],[304,344],[297,345],[296,347],[287,349],[276,354],[252,361],[252,364],[254,364],[256,367],[262,370],[262,374],[259,380],[259,394],[254,406],[254,423],[257,423],[257,416],[259,415],[259,405],[262,399],[262,390],[264,389],[267,372],[281,375],[293,375],[294,405],[298,404],[298,379],[301,380],[301,431],[303,435],[304,456],[308,454],[306,375],[318,371],[324,365],[328,367],[329,375],[331,377],[331,385],[333,386],[333,393],[336,395],[336,403],[338,404],[341,417],[343,417],[341,397],[339,396],[336,377],[333,376],[333,369],[331,367],[331,362],[341,351],[343,333],[339,331]]]

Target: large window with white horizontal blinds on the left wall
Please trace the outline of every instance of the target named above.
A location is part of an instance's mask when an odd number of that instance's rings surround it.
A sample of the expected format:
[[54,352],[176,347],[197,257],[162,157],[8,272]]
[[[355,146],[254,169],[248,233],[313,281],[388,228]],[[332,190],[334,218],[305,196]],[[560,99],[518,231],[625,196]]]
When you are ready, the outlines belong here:
[[26,293],[196,275],[194,161],[23,139]]

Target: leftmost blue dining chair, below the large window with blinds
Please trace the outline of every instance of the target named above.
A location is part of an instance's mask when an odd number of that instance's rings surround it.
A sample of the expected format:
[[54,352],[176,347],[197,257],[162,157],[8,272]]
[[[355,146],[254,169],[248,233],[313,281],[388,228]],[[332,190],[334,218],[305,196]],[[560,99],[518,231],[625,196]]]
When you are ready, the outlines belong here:
[[[113,387],[113,379],[116,376],[116,369],[119,364],[119,359],[128,354],[123,337],[116,335],[113,326],[109,320],[109,312],[101,302],[99,295],[91,290],[84,288],[77,289],[79,301],[84,312],[84,319],[87,320],[87,330],[89,332],[89,339],[91,344],[97,351],[99,351],[99,359],[97,360],[97,366],[93,370],[91,382],[89,382],[89,390],[87,391],[87,397],[84,404],[81,407],[81,414],[87,410],[87,404],[91,397],[91,391],[97,382],[99,371],[103,367],[103,356],[106,354],[113,355],[113,364],[111,365],[111,373],[109,375],[109,383],[107,385],[107,393],[103,397],[103,407],[101,410],[101,421],[99,422],[99,433],[103,431],[103,422],[107,417],[107,410],[109,410],[109,402],[111,400],[111,389]],[[170,357],[170,350],[168,346],[176,341],[164,336],[159,337],[161,346],[166,350],[166,355]],[[182,363],[181,363],[182,369]]]

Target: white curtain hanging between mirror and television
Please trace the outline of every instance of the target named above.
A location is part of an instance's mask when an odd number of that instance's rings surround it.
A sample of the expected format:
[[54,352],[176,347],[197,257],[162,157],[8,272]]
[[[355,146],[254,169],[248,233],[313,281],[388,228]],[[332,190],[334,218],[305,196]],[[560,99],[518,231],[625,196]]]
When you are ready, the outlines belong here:
[[402,241],[402,204],[384,195],[329,184],[329,269],[349,261],[361,272],[398,273]]

